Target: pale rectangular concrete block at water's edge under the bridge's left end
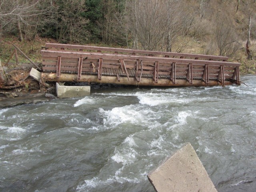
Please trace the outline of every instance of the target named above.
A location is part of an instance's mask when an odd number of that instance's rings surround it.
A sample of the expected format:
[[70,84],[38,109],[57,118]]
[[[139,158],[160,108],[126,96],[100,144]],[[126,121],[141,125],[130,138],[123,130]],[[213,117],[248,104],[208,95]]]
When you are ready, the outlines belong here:
[[90,86],[64,86],[56,83],[58,98],[72,98],[90,95]]

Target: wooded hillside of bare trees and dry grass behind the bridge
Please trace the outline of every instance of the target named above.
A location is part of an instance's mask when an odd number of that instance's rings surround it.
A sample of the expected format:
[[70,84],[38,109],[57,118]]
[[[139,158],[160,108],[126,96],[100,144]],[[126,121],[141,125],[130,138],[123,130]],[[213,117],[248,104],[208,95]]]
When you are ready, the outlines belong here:
[[1,0],[0,40],[2,61],[12,44],[40,60],[58,42],[229,56],[255,73],[256,0]]

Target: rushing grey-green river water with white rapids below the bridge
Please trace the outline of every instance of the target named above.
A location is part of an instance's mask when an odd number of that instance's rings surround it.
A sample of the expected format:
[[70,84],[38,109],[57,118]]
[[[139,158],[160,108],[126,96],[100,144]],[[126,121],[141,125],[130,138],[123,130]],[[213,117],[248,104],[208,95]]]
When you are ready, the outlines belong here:
[[256,76],[241,80],[2,109],[0,191],[153,192],[147,173],[190,142],[219,192],[254,192]]

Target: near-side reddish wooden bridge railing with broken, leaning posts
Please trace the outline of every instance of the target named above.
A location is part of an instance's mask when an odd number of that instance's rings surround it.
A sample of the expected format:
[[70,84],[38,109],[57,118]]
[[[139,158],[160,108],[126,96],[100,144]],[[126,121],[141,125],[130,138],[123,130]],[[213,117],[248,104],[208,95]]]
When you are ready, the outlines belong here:
[[240,84],[240,63],[226,61],[49,49],[42,50],[42,58],[44,71],[56,72],[57,77],[61,73],[75,73],[78,81],[82,74],[89,74],[97,75],[98,80],[102,76],[116,76],[117,79],[136,78],[138,82],[141,78],[151,78],[155,83],[159,78],[169,78],[176,84],[180,78],[189,84],[193,84],[193,80],[202,80],[206,85],[210,80],[222,85],[225,80]]

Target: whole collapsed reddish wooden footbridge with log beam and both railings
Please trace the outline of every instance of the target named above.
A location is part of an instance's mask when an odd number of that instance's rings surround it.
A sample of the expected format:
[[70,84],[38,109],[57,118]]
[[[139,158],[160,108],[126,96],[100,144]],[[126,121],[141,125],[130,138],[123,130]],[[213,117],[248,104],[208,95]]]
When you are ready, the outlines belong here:
[[240,84],[240,63],[228,57],[46,43],[44,81],[140,86]]

